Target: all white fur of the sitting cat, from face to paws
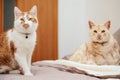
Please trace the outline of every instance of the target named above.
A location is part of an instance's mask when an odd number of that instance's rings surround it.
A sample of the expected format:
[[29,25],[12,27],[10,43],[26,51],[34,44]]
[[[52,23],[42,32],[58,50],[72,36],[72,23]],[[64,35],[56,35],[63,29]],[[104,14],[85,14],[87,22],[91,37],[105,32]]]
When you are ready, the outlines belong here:
[[[32,12],[33,11],[33,12]],[[33,6],[30,12],[34,13],[34,18],[37,20],[37,8]],[[12,41],[16,48],[14,53],[15,60],[22,68],[24,75],[32,75],[30,71],[31,67],[31,58],[32,53],[35,48],[36,44],[36,29],[38,27],[38,21],[32,22],[27,19],[27,13],[23,16],[25,23],[28,24],[29,27],[26,29],[21,24],[20,18],[22,16],[18,16],[21,13],[19,8],[15,7],[14,14],[15,14],[15,21],[14,21],[14,28],[13,30],[9,30],[7,32],[8,43]],[[26,34],[28,38],[26,38]]]

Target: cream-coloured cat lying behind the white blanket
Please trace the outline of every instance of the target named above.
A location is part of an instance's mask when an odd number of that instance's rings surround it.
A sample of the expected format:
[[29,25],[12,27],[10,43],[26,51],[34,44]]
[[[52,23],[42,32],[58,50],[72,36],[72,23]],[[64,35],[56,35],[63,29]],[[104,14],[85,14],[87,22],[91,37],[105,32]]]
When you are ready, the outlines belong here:
[[94,24],[89,21],[91,41],[82,44],[69,58],[71,61],[94,65],[119,65],[119,45],[110,33],[110,21]]

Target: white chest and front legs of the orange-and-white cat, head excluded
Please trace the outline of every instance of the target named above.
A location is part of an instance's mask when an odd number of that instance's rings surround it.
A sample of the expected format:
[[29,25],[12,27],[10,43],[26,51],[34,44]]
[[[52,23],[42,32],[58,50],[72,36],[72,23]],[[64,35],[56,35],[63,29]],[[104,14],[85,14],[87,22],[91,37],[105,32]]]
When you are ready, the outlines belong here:
[[28,39],[25,38],[26,35],[21,34],[16,30],[10,30],[7,33],[7,36],[9,42],[13,41],[17,48],[16,53],[14,53],[16,61],[22,67],[25,75],[31,75],[30,65],[32,53],[36,44],[36,32],[28,35]]

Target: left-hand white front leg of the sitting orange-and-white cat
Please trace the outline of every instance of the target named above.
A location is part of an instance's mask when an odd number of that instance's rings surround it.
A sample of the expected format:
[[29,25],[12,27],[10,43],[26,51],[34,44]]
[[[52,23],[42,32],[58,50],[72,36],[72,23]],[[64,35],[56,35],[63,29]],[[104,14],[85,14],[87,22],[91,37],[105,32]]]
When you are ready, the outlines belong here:
[[28,66],[26,56],[15,53],[15,59],[21,67],[24,75],[33,75],[30,71],[30,67]]

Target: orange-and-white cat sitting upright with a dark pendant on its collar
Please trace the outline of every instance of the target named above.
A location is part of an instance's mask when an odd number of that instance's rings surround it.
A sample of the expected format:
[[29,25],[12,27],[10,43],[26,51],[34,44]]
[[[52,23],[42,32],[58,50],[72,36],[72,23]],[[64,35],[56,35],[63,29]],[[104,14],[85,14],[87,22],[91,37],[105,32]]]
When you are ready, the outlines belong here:
[[19,69],[24,75],[32,75],[30,67],[37,27],[36,6],[28,12],[14,7],[14,27],[0,34],[0,73]]

